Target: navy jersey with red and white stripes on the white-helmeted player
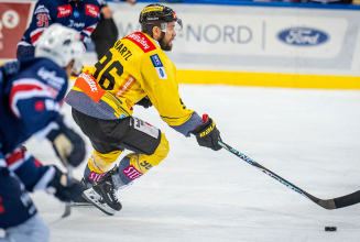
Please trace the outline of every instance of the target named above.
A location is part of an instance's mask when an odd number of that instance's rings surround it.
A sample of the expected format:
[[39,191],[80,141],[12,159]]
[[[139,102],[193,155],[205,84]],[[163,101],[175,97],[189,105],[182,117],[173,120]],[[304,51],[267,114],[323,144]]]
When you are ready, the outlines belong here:
[[[28,191],[43,190],[55,168],[20,147],[45,138],[59,116],[67,75],[48,58],[24,58],[0,67],[0,228],[19,226],[36,213]],[[8,172],[10,170],[10,172]]]

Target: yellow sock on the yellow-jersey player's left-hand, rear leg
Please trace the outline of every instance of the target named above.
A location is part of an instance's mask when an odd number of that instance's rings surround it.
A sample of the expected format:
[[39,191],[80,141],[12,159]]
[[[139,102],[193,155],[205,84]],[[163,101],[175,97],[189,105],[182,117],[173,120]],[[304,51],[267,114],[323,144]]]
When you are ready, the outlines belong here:
[[112,163],[118,160],[121,151],[101,154],[94,150],[91,157],[87,162],[84,177],[86,177],[88,180],[97,182],[111,168]]

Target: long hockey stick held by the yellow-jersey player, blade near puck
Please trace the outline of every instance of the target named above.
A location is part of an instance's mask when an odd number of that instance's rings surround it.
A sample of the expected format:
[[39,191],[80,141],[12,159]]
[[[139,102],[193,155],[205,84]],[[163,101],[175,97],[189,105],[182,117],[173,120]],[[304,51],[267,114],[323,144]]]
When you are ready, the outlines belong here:
[[303,195],[307,199],[310,199],[312,201],[314,201],[315,204],[317,204],[318,206],[320,206],[323,208],[338,209],[338,208],[343,208],[343,207],[348,207],[348,206],[356,205],[356,204],[360,202],[360,190],[358,190],[358,191],[356,191],[353,194],[349,194],[349,195],[338,197],[338,198],[332,198],[332,199],[319,199],[317,197],[314,197],[313,195],[310,195],[310,194],[306,193],[305,190],[298,188],[297,186],[293,185],[292,183],[288,183],[286,179],[282,178],[281,176],[276,175],[275,173],[271,172],[270,169],[263,167],[262,165],[260,165],[259,163],[257,163],[252,158],[250,158],[250,157],[246,156],[244,154],[238,152],[237,150],[234,150],[230,145],[223,143],[222,141],[218,141],[218,144],[221,145],[225,150],[231,152],[232,154],[234,154],[236,156],[241,158],[242,161],[244,161],[248,164],[257,167],[261,172],[265,173],[266,175],[271,176],[272,178],[279,180],[282,184],[284,184],[286,187],[291,188],[292,190]]

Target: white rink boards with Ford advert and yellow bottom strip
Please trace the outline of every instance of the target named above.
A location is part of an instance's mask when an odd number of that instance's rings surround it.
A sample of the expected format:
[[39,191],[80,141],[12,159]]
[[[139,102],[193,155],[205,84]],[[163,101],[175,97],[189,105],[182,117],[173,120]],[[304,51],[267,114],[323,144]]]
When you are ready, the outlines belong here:
[[[166,53],[178,69],[178,82],[360,89],[360,7],[227,2],[166,3],[184,23]],[[140,30],[139,13],[146,4],[109,3],[120,38]],[[9,41],[6,25],[0,62],[14,58],[4,58],[3,51],[13,48],[4,43],[18,43]],[[97,61],[94,53],[85,59],[86,66]]]

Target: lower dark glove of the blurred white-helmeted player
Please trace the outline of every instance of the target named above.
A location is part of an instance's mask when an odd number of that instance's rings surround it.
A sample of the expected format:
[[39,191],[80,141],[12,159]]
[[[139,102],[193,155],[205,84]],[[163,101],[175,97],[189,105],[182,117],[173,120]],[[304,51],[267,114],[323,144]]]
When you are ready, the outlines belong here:
[[81,196],[83,184],[76,180],[68,180],[66,174],[63,174],[56,166],[54,178],[47,184],[47,190],[54,193],[54,196],[62,201],[75,201]]

